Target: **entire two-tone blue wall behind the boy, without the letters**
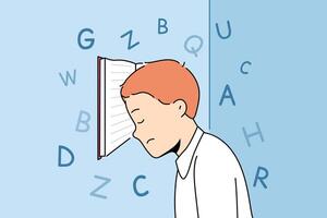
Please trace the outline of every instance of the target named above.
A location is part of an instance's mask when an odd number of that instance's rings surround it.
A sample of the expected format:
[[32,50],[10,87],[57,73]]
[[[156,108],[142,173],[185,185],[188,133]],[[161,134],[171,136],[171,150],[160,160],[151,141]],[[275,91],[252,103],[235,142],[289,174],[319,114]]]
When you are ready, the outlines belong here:
[[[153,159],[132,140],[96,160],[98,55],[185,61],[201,85],[196,121],[237,153],[254,216],[323,214],[326,3],[211,1],[210,5],[209,13],[208,2],[195,0],[0,3],[0,217],[173,217],[175,156]],[[157,34],[159,17],[168,21],[168,34]],[[225,32],[227,20],[232,34],[222,40],[215,23]],[[85,27],[95,32],[89,50],[82,50],[76,40]],[[126,38],[120,38],[130,29],[141,43],[132,50],[126,49]],[[191,35],[204,38],[197,58],[183,48]],[[247,75],[240,73],[243,61],[252,62]],[[76,83],[66,87],[59,73],[74,69]],[[226,84],[237,106],[228,99],[218,105]],[[85,133],[75,131],[81,110],[92,117]],[[255,131],[255,122],[265,142],[253,137],[249,147],[242,128]],[[58,167],[59,145],[74,153],[71,167]],[[253,186],[258,166],[269,170],[268,189]],[[145,197],[133,192],[140,174],[146,175],[138,183],[140,190],[149,191]],[[111,179],[99,191],[106,199],[89,195],[102,183],[94,175]]]

